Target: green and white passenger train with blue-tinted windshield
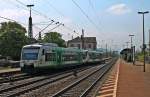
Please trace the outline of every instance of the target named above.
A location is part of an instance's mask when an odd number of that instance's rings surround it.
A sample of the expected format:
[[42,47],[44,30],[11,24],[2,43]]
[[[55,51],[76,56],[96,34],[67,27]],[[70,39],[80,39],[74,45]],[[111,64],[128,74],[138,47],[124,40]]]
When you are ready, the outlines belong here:
[[78,48],[58,47],[55,43],[35,43],[25,45],[21,51],[20,67],[22,72],[34,73],[98,63],[103,60],[103,53]]

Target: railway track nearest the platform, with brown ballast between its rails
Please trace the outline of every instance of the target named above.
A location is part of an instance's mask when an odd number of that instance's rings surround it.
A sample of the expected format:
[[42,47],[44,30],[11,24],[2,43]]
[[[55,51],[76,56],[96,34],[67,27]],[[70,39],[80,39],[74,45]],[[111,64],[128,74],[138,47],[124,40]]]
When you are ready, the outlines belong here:
[[49,97],[85,97],[110,67],[111,65],[107,64]]

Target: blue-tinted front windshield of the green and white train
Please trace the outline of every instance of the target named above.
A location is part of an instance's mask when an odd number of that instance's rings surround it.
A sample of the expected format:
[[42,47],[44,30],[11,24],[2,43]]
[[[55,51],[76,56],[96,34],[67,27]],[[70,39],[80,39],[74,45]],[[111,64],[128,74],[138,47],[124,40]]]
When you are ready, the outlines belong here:
[[22,60],[37,60],[40,48],[23,48]]

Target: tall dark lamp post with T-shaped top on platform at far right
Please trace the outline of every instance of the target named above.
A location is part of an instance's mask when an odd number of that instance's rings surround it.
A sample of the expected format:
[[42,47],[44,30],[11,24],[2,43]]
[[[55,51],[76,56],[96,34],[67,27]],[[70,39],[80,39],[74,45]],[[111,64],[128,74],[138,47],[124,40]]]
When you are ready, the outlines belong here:
[[145,72],[145,34],[144,34],[144,14],[149,13],[149,11],[145,11],[145,12],[138,12],[138,14],[142,14],[143,16],[143,54],[144,54],[144,63],[143,63],[143,72]]

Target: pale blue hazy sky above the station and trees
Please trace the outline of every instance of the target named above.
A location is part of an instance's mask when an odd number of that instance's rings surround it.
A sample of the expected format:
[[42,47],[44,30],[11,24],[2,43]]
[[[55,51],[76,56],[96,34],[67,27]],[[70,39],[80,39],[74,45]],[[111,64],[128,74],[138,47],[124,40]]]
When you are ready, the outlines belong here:
[[[20,2],[21,1],[21,2]],[[129,34],[137,49],[142,45],[142,15],[138,11],[150,11],[150,0],[0,0],[0,16],[13,19],[28,29],[29,8],[24,5],[34,4],[32,9],[33,35],[52,23],[48,31],[61,33],[62,38],[70,40],[82,34],[96,37],[98,47],[120,50],[130,42]],[[0,18],[0,22],[4,22]],[[145,14],[145,38],[149,40],[150,13]],[[75,31],[75,32],[74,32]],[[130,47],[130,44],[128,45]]]

